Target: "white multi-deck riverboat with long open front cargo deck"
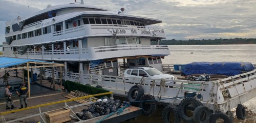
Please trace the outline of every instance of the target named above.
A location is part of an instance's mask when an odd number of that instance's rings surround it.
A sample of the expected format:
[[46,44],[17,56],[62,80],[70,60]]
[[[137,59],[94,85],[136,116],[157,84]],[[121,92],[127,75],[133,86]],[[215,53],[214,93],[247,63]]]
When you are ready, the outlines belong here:
[[[209,109],[222,112],[256,96],[255,70],[208,82],[123,77],[126,68],[148,66],[163,71],[161,58],[170,54],[167,46],[159,45],[166,38],[164,30],[147,27],[161,22],[83,4],[49,6],[6,22],[3,55],[64,63],[66,80],[100,85],[120,96],[127,96],[136,84],[156,99],[184,97],[189,91],[200,93],[199,100]],[[51,73],[45,69],[46,76]],[[159,102],[179,105],[181,101]]]

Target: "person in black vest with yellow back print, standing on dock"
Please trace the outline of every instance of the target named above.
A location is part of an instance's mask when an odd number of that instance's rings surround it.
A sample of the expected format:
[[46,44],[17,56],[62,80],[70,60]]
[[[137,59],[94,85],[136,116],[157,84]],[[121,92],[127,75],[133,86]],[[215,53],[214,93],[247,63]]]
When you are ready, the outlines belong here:
[[28,88],[24,86],[24,83],[22,83],[22,86],[16,91],[16,93],[19,96],[20,109],[23,108],[23,101],[27,108],[28,107],[28,103],[27,103]]

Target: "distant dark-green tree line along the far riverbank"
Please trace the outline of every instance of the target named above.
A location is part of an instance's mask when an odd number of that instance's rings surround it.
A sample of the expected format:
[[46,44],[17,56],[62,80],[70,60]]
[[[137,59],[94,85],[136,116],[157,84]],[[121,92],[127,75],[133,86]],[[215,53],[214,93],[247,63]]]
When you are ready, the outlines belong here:
[[256,39],[202,39],[202,40],[160,40],[160,45],[219,45],[219,44],[256,44]]

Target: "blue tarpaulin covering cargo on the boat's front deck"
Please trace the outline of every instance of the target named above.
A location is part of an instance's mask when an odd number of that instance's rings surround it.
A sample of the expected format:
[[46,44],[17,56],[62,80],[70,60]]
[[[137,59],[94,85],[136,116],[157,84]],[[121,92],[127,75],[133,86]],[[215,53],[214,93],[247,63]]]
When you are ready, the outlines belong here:
[[253,65],[247,62],[195,62],[187,64],[183,73],[234,76],[252,70],[254,70]]

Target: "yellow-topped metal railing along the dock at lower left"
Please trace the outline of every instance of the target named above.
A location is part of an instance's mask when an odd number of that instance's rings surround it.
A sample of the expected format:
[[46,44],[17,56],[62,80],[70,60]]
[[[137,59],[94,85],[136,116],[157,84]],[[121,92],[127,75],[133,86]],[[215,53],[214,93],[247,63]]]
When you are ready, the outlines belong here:
[[[31,107],[27,107],[27,108],[22,108],[22,109],[16,109],[16,110],[11,110],[11,111],[6,111],[6,112],[0,112],[0,115],[1,115],[1,119],[2,119],[2,122],[14,122],[14,121],[19,121],[19,120],[22,120],[22,119],[26,119],[26,118],[30,118],[30,117],[34,117],[34,116],[40,116],[41,120],[44,120],[44,118],[42,118],[42,114],[44,114],[44,112],[41,112],[41,109],[40,107],[42,106],[49,106],[49,105],[54,105],[54,104],[59,104],[59,103],[65,103],[65,107],[66,108],[69,108],[71,111],[72,109],[71,108],[75,108],[75,107],[78,107],[78,106],[84,106],[84,105],[88,105],[88,104],[92,104],[94,103],[92,101],[92,97],[95,97],[95,96],[102,96],[102,95],[109,95],[111,94],[111,97],[113,97],[113,92],[108,92],[108,93],[101,93],[101,94],[95,94],[95,95],[89,95],[89,96],[84,96],[84,97],[79,97],[79,98],[74,98],[74,99],[68,99],[68,100],[62,100],[62,101],[57,101],[57,102],[52,102],[52,103],[46,103],[46,104],[40,104],[40,105],[36,105],[36,106],[31,106]],[[71,102],[71,101],[75,101],[75,100],[80,100],[80,99],[86,99],[86,98],[89,98],[90,99],[90,102],[89,103],[84,103],[84,104],[80,104],[80,105],[75,105],[75,106],[68,106],[67,105],[67,102]],[[30,116],[26,116],[26,117],[22,117],[22,118],[17,118],[17,119],[13,119],[13,120],[9,120],[9,121],[6,121],[5,120],[5,117],[4,115],[7,115],[7,114],[10,114],[10,113],[13,113],[13,112],[19,112],[19,111],[24,111],[24,110],[29,110],[29,109],[34,109],[34,108],[39,108],[39,113],[38,114],[33,114],[33,115],[30,115]],[[75,115],[75,112],[72,111],[72,113]],[[76,115],[75,115],[76,116]],[[78,117],[77,117],[78,118]],[[79,118],[78,118],[79,119]]]

